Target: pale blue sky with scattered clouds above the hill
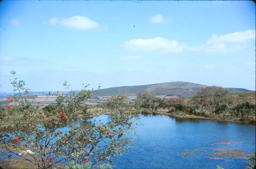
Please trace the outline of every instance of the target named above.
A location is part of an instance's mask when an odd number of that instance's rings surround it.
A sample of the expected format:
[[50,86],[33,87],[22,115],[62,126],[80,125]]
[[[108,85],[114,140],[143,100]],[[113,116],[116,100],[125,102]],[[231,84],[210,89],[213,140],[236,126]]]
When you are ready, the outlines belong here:
[[3,1],[0,91],[188,81],[255,90],[252,1]]

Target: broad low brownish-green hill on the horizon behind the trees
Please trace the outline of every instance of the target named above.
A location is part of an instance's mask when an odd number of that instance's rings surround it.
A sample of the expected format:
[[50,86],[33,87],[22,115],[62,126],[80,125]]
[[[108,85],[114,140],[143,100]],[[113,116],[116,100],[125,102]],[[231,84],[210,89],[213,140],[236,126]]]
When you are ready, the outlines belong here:
[[[165,83],[157,83],[152,85],[140,85],[140,86],[123,86],[115,88],[106,88],[93,91],[94,96],[113,96],[124,94],[127,96],[135,96],[139,92],[147,91],[155,95],[178,95],[180,97],[193,97],[197,91],[206,85],[200,85],[197,83],[173,81]],[[242,88],[225,88],[233,93],[236,92],[251,92]]]

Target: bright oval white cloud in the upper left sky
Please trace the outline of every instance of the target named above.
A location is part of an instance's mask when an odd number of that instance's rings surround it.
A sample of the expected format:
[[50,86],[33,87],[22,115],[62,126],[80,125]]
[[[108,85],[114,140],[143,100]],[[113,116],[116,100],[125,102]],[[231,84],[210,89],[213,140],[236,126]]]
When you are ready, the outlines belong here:
[[72,16],[70,18],[51,18],[50,24],[60,24],[74,30],[92,30],[99,24],[85,16]]

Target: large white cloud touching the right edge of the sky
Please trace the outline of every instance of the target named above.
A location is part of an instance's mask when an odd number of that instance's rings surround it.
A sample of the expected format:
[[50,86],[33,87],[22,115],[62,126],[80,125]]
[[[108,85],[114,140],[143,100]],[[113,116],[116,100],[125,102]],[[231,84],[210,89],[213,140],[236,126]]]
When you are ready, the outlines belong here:
[[225,35],[212,35],[204,44],[189,47],[192,51],[232,53],[246,48],[244,43],[255,39],[255,31],[234,32]]

